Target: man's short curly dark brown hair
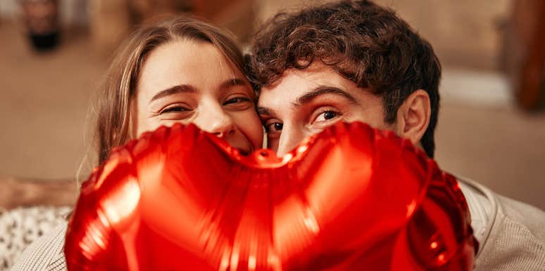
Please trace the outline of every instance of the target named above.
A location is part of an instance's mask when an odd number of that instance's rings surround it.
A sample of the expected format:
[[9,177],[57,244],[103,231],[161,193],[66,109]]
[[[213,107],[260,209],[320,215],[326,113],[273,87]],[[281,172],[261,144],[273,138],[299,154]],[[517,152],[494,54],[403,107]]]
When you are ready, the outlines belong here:
[[341,1],[278,13],[255,35],[249,79],[259,90],[284,70],[304,70],[316,60],[382,96],[389,124],[411,93],[426,91],[432,115],[420,143],[433,157],[441,65],[432,46],[394,11],[370,1]]

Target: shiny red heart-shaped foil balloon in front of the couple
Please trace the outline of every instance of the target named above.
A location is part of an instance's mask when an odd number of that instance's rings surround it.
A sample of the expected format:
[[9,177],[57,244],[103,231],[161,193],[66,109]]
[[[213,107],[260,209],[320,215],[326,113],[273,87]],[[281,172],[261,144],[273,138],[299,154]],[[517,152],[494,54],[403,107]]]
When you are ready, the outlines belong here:
[[336,124],[277,158],[196,126],[113,150],[82,185],[68,270],[471,270],[456,180],[407,140]]

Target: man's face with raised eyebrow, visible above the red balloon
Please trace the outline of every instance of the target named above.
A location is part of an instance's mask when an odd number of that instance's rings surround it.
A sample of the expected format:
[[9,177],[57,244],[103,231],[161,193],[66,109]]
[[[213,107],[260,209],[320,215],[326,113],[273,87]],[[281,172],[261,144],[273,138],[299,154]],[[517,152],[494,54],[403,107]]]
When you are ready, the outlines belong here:
[[263,87],[258,113],[268,131],[268,147],[278,156],[337,121],[394,129],[384,121],[381,97],[321,63],[305,70],[286,70],[274,84]]

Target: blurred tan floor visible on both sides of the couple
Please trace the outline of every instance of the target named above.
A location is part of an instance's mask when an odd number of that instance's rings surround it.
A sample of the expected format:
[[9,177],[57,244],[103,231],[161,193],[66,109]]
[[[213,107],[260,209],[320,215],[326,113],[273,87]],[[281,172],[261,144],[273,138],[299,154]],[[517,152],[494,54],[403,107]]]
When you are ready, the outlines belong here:
[[[0,22],[0,182],[75,178],[89,147],[89,100],[107,64],[85,34],[65,33],[57,51],[37,54],[20,29]],[[439,165],[545,209],[545,114],[449,95],[443,102]]]

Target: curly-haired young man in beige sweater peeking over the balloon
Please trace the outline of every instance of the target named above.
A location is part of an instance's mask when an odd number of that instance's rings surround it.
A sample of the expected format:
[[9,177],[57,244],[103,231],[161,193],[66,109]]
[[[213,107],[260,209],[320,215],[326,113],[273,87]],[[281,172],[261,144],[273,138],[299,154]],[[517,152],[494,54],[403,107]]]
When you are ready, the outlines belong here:
[[[434,155],[441,66],[387,8],[343,1],[280,13],[251,49],[258,112],[277,154],[336,121],[389,129]],[[475,270],[545,270],[545,213],[458,178],[480,248]]]

